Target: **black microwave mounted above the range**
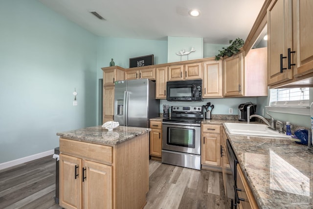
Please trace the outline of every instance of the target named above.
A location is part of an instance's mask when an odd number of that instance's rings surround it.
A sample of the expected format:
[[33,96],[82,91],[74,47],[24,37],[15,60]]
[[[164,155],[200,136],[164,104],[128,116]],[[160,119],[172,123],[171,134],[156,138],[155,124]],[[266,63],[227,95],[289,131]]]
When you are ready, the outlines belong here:
[[167,101],[202,101],[202,80],[168,81]]

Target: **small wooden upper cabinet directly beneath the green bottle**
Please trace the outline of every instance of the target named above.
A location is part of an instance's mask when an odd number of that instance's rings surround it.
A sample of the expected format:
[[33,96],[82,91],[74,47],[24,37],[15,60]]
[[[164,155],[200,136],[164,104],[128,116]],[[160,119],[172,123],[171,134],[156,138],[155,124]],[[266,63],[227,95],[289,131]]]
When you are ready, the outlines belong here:
[[112,86],[115,81],[124,80],[124,69],[118,66],[102,68],[103,86]]

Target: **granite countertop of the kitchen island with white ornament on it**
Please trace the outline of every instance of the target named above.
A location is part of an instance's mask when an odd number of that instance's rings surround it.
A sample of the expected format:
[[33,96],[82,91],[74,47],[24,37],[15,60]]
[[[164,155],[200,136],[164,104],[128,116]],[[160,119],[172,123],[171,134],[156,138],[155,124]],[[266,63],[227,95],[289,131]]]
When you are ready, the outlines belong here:
[[150,128],[138,128],[130,126],[118,126],[113,131],[108,131],[100,126],[71,130],[57,133],[57,136],[66,139],[74,139],[90,143],[115,145],[134,139],[137,136],[150,132]]

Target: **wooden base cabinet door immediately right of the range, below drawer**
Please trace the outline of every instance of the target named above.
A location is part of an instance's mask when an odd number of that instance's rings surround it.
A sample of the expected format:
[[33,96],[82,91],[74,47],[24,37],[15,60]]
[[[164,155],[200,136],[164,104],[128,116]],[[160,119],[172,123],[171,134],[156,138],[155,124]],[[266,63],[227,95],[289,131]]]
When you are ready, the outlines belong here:
[[203,134],[202,142],[202,163],[221,166],[221,135]]

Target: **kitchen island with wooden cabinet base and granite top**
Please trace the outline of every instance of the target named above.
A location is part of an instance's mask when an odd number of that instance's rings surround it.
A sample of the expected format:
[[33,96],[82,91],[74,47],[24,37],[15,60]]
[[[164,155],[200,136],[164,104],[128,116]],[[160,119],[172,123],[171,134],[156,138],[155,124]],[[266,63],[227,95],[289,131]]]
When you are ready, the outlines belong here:
[[60,136],[60,206],[140,209],[149,190],[149,128],[101,126]]

